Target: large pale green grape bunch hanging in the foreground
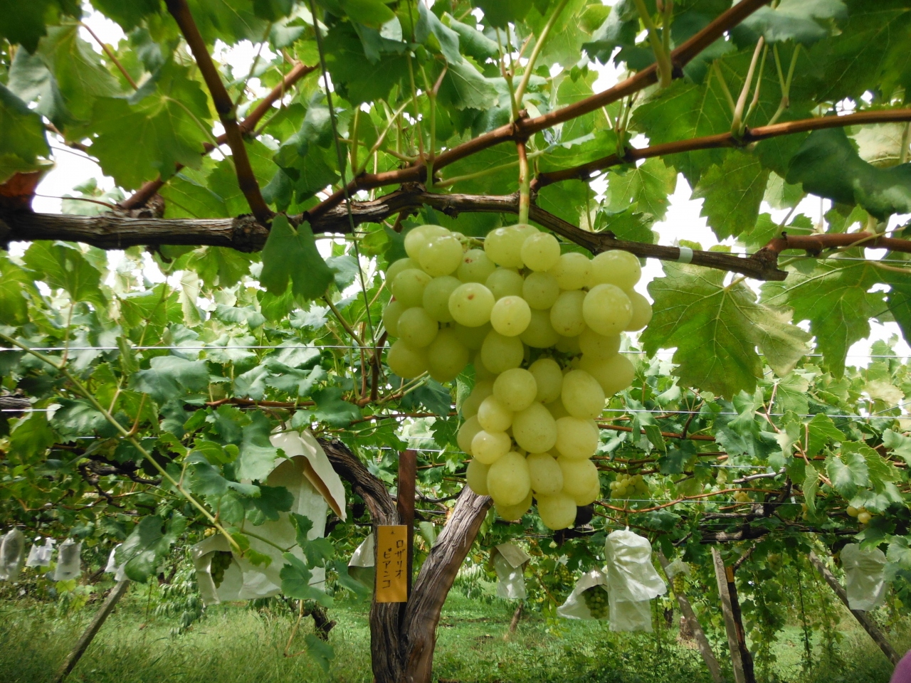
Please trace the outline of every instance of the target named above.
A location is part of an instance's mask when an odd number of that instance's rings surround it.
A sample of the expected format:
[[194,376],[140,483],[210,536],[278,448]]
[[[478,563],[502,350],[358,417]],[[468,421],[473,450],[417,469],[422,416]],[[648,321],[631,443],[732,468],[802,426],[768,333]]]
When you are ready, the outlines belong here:
[[468,485],[517,520],[537,499],[551,529],[600,494],[590,460],[607,397],[634,377],[620,333],[651,319],[633,286],[639,260],[606,251],[560,254],[530,225],[493,230],[484,249],[435,225],[405,235],[406,259],[386,271],[394,299],[383,314],[396,338],[386,356],[405,379],[455,379],[469,362],[476,384],[462,405],[458,443],[472,457]]

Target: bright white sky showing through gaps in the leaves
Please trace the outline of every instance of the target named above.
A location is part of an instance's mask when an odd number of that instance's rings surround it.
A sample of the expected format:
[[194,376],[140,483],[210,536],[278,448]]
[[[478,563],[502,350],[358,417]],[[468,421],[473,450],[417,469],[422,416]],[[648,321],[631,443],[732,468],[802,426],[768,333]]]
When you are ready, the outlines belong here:
[[[616,3],[616,0],[602,1],[606,5],[614,5]],[[109,44],[117,45],[118,41],[124,37],[120,27],[103,15],[94,12],[90,6],[86,5],[85,9],[87,16],[83,21],[87,25],[90,25],[97,36],[102,40]],[[97,43],[88,35],[85,29],[82,29],[82,31],[83,38],[100,53],[101,49],[97,46]],[[234,73],[244,74],[250,70],[258,49],[258,46],[254,46],[246,41],[235,46],[233,49],[228,49],[226,46],[217,46],[216,58],[222,63],[230,64]],[[271,56],[268,47],[262,51],[262,58],[270,59]],[[607,89],[619,81],[621,72],[616,67],[602,67],[595,63],[592,63],[591,66],[599,71],[599,78],[595,82],[596,92]],[[260,87],[258,79],[251,79],[250,85],[254,92],[264,90]],[[639,147],[644,146],[647,143],[646,140],[642,138],[641,140],[634,139],[633,144]],[[33,202],[33,207],[36,211],[58,213],[60,211],[61,202],[60,199],[56,198],[60,198],[63,195],[72,192],[75,186],[84,183],[89,178],[96,178],[99,188],[114,188],[113,179],[104,176],[95,161],[77,150],[65,147],[58,141],[52,140],[51,145],[56,151],[56,167],[45,176],[38,186],[37,193],[39,196],[36,197]],[[596,181],[594,187],[596,190],[603,193],[605,183],[602,181],[599,184]],[[670,196],[670,209],[668,210],[667,218],[654,226],[654,229],[656,229],[660,235],[659,242],[661,244],[674,244],[676,240],[694,240],[700,242],[704,249],[708,249],[712,245],[718,244],[718,240],[715,238],[711,229],[709,229],[706,220],[700,216],[701,206],[702,200],[691,199],[691,188],[689,184],[682,176],[678,176],[677,188]],[[804,199],[804,202],[802,202],[799,209],[811,219],[818,221],[821,219],[821,209],[823,209],[823,211],[829,209],[829,202],[827,200],[821,202],[819,198],[808,197],[807,199]],[[787,213],[786,210],[772,209],[764,201],[761,210],[771,213],[775,220],[782,220]],[[911,218],[911,216],[894,216],[890,222],[890,227],[904,223],[909,218]],[[726,243],[733,244],[732,240],[728,240]],[[321,246],[324,246],[328,250],[330,244],[326,241],[322,242]],[[21,245],[20,249],[24,247],[25,245]],[[884,250],[866,250],[867,258],[882,258],[883,254]],[[325,255],[328,255],[328,251]],[[115,251],[110,252],[109,254],[109,260],[111,260],[112,265],[122,258],[122,252]],[[149,280],[153,281],[163,280],[160,272],[156,273],[155,270],[158,269],[155,267],[154,263],[151,260],[148,260],[148,265],[145,270],[146,276]],[[644,294],[648,294],[645,290],[645,286],[650,280],[660,277],[661,275],[660,261],[649,260],[643,269],[642,280],[637,286],[637,290]],[[865,366],[870,362],[869,354],[871,344],[877,340],[887,340],[890,337],[898,338],[899,341],[896,344],[896,352],[900,356],[903,356],[905,360],[911,356],[911,347],[902,339],[901,331],[898,329],[896,323],[889,322],[880,324],[871,322],[871,325],[873,329],[870,337],[866,340],[856,342],[849,350],[847,359],[849,365]],[[808,326],[805,323],[802,326],[808,329]]]

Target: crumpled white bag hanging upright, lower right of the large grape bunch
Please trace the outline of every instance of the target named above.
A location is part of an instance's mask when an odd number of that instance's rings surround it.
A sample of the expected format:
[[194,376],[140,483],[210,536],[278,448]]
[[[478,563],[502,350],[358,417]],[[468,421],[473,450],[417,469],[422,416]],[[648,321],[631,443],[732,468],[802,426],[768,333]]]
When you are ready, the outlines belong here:
[[668,591],[651,564],[648,538],[629,530],[615,531],[604,547],[608,560],[611,631],[651,633],[649,601]]

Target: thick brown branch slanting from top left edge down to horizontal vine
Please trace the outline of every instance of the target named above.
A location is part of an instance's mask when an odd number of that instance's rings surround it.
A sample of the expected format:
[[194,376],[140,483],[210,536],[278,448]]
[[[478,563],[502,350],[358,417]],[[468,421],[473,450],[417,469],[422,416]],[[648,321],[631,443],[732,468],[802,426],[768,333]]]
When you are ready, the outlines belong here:
[[272,217],[272,212],[266,205],[266,200],[262,199],[260,184],[253,175],[253,168],[250,165],[250,158],[247,156],[247,148],[241,134],[241,127],[237,123],[237,111],[234,108],[234,102],[231,101],[224,83],[221,82],[221,76],[212,58],[206,43],[200,36],[200,29],[197,28],[193,15],[190,14],[187,0],[166,0],[168,11],[177,25],[180,27],[180,33],[183,34],[187,41],[190,52],[196,58],[196,64],[200,67],[203,80],[209,87],[212,96],[212,102],[215,103],[215,110],[219,113],[221,125],[225,128],[225,135],[228,138],[228,146],[231,151],[231,158],[234,161],[234,170],[237,173],[237,182],[247,198],[250,209],[261,225],[268,225]]

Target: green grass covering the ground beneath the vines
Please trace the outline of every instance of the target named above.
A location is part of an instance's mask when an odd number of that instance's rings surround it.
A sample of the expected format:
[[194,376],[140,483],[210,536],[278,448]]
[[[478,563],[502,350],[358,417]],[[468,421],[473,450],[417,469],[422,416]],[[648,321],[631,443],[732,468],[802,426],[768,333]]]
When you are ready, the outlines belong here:
[[[369,632],[363,606],[330,610],[336,657],[328,674],[306,655],[284,658],[292,618],[285,610],[228,606],[210,609],[182,635],[173,618],[148,615],[142,589],[134,589],[107,620],[70,680],[91,683],[370,683]],[[548,624],[525,615],[509,641],[503,636],[514,605],[484,604],[452,593],[445,604],[435,654],[442,681],[591,681],[592,683],[701,683],[710,681],[698,652],[676,642],[676,627],[653,634],[613,634],[601,622]],[[39,683],[56,668],[94,613],[57,617],[54,607],[0,603],[0,683]],[[297,637],[309,632],[306,619]],[[849,623],[846,628],[851,628]],[[905,645],[904,641],[896,645]],[[890,668],[863,632],[840,646],[842,662],[801,668],[803,641],[788,629],[776,647],[776,681],[886,683]],[[722,653],[722,647],[716,647]]]

